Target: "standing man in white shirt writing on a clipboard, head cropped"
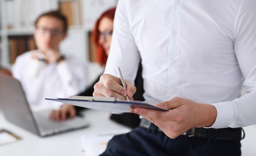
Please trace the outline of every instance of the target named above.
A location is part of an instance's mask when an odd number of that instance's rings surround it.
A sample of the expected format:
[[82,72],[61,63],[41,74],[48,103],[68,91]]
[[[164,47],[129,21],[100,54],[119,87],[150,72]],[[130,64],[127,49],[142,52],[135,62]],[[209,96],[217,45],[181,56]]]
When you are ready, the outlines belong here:
[[170,111],[130,109],[153,124],[115,136],[102,155],[240,156],[240,127],[256,124],[254,6],[255,0],[119,0],[93,95],[132,100],[141,58],[146,102]]

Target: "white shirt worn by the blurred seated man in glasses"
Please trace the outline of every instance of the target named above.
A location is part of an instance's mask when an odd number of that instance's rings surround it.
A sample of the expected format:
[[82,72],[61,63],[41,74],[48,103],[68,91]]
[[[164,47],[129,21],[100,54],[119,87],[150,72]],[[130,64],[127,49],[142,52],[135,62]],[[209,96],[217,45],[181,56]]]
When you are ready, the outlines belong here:
[[61,64],[47,64],[37,77],[29,77],[33,52],[18,56],[12,67],[13,77],[21,82],[31,107],[59,107],[61,103],[45,98],[68,98],[80,93],[88,85],[87,62],[67,55]]

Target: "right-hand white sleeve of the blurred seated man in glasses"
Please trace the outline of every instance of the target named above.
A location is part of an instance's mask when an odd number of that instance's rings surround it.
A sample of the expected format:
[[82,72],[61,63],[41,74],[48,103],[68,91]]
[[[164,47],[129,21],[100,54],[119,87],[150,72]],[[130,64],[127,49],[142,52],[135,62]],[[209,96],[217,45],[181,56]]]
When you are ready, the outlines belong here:
[[88,85],[88,62],[66,56],[65,61],[57,65],[57,72],[68,95],[76,95]]

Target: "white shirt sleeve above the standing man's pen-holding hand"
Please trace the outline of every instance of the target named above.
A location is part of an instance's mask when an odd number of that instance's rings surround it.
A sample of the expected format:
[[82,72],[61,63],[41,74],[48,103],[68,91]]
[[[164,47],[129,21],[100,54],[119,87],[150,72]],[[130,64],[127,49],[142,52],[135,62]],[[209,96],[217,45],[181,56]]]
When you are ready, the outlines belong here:
[[119,66],[124,79],[134,84],[140,55],[130,29],[126,10],[128,3],[126,3],[126,0],[119,0],[117,4],[110,53],[104,74],[112,74],[118,77],[117,66]]

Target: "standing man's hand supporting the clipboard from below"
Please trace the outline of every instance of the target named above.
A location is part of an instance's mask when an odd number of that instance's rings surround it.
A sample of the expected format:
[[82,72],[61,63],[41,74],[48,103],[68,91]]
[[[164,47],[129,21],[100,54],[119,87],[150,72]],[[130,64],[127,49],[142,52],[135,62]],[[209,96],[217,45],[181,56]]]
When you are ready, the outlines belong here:
[[213,105],[195,103],[185,98],[174,97],[155,105],[170,111],[131,108],[130,112],[143,116],[169,138],[176,138],[192,127],[210,127],[217,116],[217,110]]

